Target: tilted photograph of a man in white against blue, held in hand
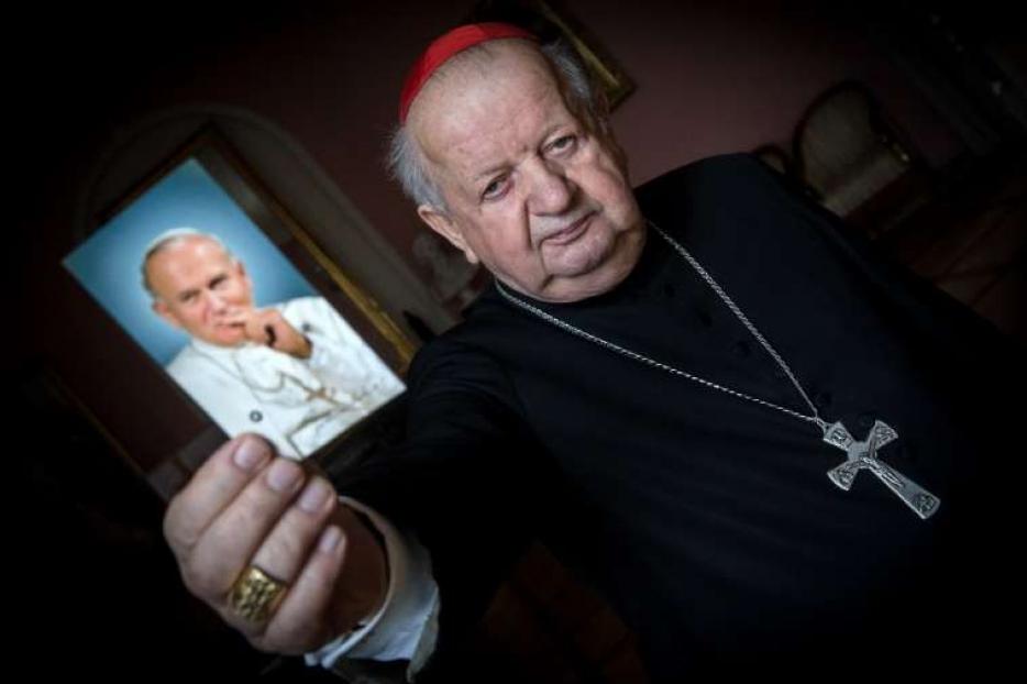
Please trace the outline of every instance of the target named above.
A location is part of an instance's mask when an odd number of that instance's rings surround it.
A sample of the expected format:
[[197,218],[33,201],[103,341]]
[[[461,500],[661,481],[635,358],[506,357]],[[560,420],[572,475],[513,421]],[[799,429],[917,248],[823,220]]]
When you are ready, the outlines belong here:
[[228,437],[305,459],[405,389],[198,156],[65,266]]

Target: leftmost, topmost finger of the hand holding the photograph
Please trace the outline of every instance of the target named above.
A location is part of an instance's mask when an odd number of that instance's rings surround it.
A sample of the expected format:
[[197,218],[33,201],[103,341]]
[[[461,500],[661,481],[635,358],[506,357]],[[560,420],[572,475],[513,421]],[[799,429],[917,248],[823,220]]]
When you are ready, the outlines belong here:
[[243,434],[225,442],[200,466],[164,516],[164,536],[176,556],[188,554],[273,455],[266,441]]

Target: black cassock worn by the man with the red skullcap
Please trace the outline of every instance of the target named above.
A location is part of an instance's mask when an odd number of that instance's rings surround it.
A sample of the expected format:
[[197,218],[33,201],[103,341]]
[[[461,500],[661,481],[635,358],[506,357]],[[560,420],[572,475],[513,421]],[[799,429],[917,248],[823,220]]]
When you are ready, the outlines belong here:
[[[684,244],[821,416],[937,495],[921,520],[811,423],[647,367],[493,288],[410,375],[409,443],[343,488],[431,552],[440,658],[541,536],[637,632],[654,681],[929,676],[1013,661],[1022,607],[1022,354],[748,155],[650,181]],[[545,311],[798,412],[778,365],[655,232],[615,290]],[[1014,620],[1006,626],[1006,618]]]

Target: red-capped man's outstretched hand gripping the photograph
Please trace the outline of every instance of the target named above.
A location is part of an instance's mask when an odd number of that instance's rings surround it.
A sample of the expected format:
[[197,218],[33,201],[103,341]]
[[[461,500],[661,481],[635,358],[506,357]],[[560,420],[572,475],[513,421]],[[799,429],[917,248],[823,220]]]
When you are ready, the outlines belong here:
[[[168,507],[164,533],[187,588],[264,651],[312,651],[385,597],[385,554],[371,530],[327,479],[276,457],[252,434],[227,442],[197,471]],[[266,619],[231,606],[236,580],[252,566],[286,586]]]

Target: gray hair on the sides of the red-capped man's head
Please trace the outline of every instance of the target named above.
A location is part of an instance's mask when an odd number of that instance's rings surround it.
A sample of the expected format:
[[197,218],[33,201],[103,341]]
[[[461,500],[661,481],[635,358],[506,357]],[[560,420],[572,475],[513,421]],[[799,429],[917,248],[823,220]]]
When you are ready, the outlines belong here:
[[[486,48],[486,45],[471,47],[464,54]],[[593,85],[577,52],[562,40],[543,43],[538,47],[553,69],[567,109],[590,131],[607,134],[606,102]],[[404,194],[415,205],[445,210],[445,199],[428,172],[421,148],[402,123],[393,131],[386,165],[391,177],[399,181]]]

